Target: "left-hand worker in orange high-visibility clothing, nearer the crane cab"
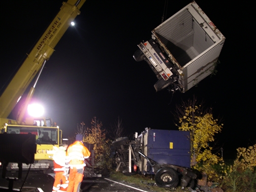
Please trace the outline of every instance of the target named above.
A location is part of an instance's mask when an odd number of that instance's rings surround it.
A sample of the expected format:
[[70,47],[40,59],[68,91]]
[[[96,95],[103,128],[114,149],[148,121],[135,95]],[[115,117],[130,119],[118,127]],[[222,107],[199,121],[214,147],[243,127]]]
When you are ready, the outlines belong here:
[[55,180],[52,192],[66,192],[67,190],[68,181],[66,176],[68,169],[65,166],[67,146],[67,142],[63,141],[62,146],[60,146],[53,155]]

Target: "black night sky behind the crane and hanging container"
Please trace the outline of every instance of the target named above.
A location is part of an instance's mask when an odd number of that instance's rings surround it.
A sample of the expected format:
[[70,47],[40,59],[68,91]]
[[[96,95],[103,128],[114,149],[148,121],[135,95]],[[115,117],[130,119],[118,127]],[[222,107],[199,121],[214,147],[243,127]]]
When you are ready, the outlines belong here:
[[[132,55],[161,23],[164,0],[87,0],[46,63],[34,99],[72,136],[96,116],[108,129],[118,117],[128,134],[146,127],[174,129],[175,106],[195,96],[222,120],[224,154],[256,143],[255,10],[251,1],[196,0],[226,37],[217,74],[188,92],[156,93],[157,77]],[[191,0],[168,0],[165,18]],[[8,82],[59,12],[62,0],[1,1],[0,85]],[[2,92],[2,90],[1,90]]]

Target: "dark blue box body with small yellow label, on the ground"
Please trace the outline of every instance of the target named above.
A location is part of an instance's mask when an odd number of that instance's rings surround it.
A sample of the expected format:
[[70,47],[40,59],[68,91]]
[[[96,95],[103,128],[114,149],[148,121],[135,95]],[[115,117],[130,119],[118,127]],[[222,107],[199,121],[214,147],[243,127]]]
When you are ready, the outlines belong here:
[[[160,164],[190,168],[190,132],[179,130],[146,129],[138,136],[143,153]],[[146,165],[146,160],[144,160]]]

